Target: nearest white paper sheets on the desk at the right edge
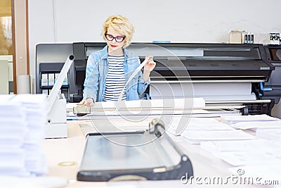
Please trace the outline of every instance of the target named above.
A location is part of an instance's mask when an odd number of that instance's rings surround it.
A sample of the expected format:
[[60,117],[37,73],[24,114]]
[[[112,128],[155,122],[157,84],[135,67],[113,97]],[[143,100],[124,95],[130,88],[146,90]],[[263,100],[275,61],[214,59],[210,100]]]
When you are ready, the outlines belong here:
[[266,139],[201,142],[201,148],[233,166],[280,163],[281,142]]

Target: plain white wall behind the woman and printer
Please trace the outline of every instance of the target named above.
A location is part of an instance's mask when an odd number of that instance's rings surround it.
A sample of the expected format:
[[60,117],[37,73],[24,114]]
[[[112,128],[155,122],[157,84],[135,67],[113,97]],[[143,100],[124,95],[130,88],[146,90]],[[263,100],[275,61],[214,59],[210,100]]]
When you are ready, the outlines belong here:
[[30,73],[40,43],[102,42],[103,21],[122,14],[135,26],[133,42],[229,42],[231,30],[268,44],[281,32],[280,0],[29,0]]

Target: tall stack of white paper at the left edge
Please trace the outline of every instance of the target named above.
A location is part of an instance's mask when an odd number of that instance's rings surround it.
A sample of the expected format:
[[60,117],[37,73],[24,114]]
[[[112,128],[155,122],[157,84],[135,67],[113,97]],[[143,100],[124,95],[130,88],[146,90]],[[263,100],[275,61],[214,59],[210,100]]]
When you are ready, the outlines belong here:
[[46,96],[0,96],[0,175],[43,175]]

